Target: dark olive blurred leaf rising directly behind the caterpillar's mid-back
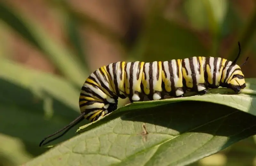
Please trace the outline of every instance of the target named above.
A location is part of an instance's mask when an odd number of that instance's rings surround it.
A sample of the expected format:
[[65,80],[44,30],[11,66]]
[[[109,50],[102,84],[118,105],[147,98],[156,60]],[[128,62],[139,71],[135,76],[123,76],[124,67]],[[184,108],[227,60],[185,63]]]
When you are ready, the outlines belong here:
[[131,58],[141,61],[164,61],[205,56],[207,50],[195,32],[175,22],[154,16],[148,23]]

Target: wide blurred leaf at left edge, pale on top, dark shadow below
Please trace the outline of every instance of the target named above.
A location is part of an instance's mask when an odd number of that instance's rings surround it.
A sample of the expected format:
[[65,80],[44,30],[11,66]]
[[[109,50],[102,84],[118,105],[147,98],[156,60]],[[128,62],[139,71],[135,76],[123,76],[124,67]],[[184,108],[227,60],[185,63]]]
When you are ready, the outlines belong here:
[[[1,59],[0,86],[0,132],[34,147],[80,113],[80,91],[58,76]],[[71,129],[61,140],[74,135]]]

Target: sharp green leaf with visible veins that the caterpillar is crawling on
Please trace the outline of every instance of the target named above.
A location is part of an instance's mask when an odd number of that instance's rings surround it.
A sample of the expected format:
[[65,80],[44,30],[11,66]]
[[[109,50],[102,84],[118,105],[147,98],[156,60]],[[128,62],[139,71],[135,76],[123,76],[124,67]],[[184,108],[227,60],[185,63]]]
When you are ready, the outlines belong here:
[[246,81],[251,95],[219,88],[211,90],[216,94],[126,105],[25,165],[195,162],[256,134],[256,79]]

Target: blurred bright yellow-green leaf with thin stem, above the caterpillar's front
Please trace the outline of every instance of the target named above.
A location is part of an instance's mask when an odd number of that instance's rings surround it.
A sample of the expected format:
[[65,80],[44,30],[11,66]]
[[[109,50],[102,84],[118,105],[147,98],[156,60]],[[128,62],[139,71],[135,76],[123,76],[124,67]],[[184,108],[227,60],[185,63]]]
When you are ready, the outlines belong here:
[[212,37],[212,49],[209,56],[216,57],[217,55],[227,9],[227,0],[189,0],[185,2],[185,11],[191,25],[200,30],[209,29]]

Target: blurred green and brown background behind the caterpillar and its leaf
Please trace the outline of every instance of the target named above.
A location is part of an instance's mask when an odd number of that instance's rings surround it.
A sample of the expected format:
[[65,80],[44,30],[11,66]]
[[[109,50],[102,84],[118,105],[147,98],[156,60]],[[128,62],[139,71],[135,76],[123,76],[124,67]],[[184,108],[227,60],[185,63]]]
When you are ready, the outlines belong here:
[[[235,59],[256,77],[254,0],[0,0],[0,166],[44,153],[42,138],[80,114],[87,76],[116,61]],[[122,100],[119,107],[127,100]],[[71,138],[76,125],[60,141]],[[256,165],[251,137],[193,166]]]

